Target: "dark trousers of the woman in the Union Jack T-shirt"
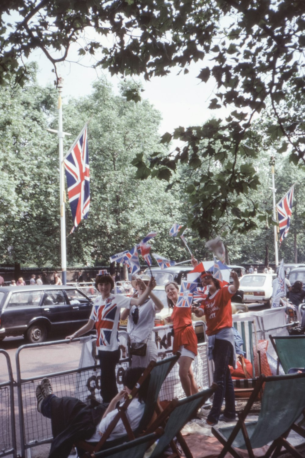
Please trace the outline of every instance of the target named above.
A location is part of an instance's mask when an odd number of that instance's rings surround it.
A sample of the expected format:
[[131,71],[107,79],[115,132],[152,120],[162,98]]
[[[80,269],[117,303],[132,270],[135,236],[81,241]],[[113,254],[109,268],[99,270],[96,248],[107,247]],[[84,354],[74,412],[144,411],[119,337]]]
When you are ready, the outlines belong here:
[[120,360],[121,350],[98,351],[98,359],[101,367],[101,396],[104,403],[110,403],[118,394],[115,366]]

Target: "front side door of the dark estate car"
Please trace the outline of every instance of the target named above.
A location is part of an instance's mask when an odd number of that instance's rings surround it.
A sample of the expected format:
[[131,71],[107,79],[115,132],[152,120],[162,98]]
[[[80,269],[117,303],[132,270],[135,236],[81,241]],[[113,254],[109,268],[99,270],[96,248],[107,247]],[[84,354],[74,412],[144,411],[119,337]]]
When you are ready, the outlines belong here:
[[93,302],[77,288],[66,288],[65,293],[71,307],[71,319],[79,329],[89,320]]

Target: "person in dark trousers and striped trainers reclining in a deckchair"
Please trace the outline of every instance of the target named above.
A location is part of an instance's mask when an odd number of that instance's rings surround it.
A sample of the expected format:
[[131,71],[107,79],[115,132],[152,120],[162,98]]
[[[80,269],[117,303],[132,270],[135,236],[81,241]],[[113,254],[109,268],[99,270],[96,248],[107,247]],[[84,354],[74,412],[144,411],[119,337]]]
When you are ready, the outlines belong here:
[[[36,388],[37,410],[43,416],[51,419],[53,442],[48,458],[66,458],[75,442],[91,442],[95,445],[101,439],[111,420],[118,413],[118,402],[124,401],[131,393],[135,384],[144,371],[143,367],[128,367],[123,375],[123,390],[118,393],[109,404],[96,403],[86,405],[77,398],[64,396],[58,398],[53,393],[48,378],[44,378]],[[132,430],[139,426],[142,418],[150,376],[139,387],[139,391],[126,410],[126,416]],[[126,435],[122,420],[118,420],[107,442],[111,442]],[[104,446],[104,448],[107,448]],[[80,453],[80,450],[79,450]]]

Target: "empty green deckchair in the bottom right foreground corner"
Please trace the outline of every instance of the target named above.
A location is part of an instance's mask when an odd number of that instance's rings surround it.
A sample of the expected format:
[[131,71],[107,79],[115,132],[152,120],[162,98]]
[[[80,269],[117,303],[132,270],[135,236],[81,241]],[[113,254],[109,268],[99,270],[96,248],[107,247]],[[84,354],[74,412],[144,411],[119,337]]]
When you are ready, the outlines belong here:
[[[262,385],[261,410],[256,421],[246,422],[247,415]],[[278,457],[282,447],[294,457],[303,458],[287,440],[294,422],[305,408],[305,373],[265,377],[261,375],[245,408],[238,415],[236,425],[223,428],[212,427],[214,436],[224,445],[218,458],[230,453],[241,458],[238,449],[248,451],[254,458],[253,449],[269,445],[265,458]],[[261,457],[262,458],[262,457]]]

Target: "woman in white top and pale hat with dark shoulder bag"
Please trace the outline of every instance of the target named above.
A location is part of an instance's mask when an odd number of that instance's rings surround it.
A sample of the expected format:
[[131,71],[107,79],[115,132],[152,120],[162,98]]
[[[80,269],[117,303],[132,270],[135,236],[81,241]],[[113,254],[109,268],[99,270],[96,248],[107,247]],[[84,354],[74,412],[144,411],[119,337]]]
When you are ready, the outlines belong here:
[[[140,275],[136,280],[132,280],[131,284],[139,297],[144,294],[149,280],[150,277],[147,275]],[[155,314],[163,309],[163,304],[152,292],[149,297],[150,299],[146,299],[142,305],[133,305],[130,310],[125,309],[121,313],[122,320],[129,315],[127,332],[130,338],[132,367],[147,367],[150,361],[156,361],[158,356],[157,346],[151,338],[151,332],[155,325]]]

